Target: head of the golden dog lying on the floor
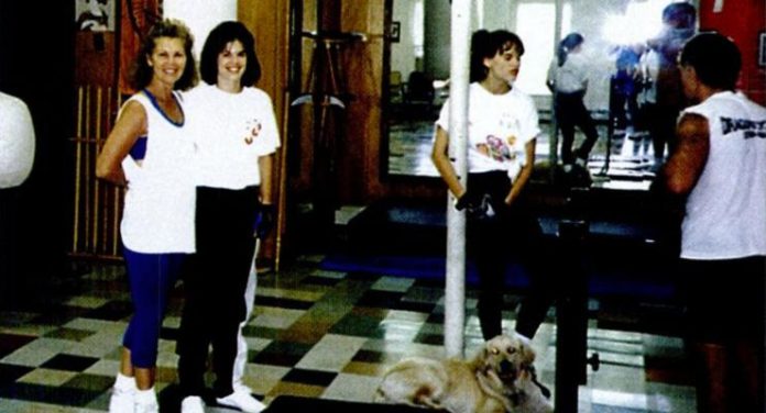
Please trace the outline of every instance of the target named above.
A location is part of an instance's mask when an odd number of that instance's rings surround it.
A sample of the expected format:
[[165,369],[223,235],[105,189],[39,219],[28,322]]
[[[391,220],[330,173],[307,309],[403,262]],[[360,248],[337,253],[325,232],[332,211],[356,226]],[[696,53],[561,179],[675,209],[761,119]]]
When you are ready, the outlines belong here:
[[484,373],[496,376],[507,386],[532,368],[535,350],[517,337],[499,335],[486,342],[477,361]]

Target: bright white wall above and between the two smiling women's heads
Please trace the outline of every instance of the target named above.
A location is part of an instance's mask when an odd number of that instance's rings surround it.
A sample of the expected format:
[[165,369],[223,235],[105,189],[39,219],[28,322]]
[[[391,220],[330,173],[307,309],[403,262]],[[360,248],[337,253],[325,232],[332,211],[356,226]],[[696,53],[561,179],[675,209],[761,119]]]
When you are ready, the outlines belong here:
[[164,0],[165,18],[182,20],[194,35],[194,53],[199,53],[212,27],[227,20],[237,20],[237,0]]

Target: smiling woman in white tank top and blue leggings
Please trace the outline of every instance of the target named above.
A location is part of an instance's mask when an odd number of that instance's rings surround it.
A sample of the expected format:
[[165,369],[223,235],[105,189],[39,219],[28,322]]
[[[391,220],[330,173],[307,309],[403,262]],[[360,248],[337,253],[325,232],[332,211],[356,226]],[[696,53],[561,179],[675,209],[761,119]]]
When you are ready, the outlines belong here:
[[120,109],[96,163],[96,176],[127,186],[120,233],[134,314],[123,338],[112,413],[158,412],[154,392],[160,328],[167,295],[195,250],[194,143],[177,90],[197,80],[193,37],[164,20],[135,59],[140,90]]

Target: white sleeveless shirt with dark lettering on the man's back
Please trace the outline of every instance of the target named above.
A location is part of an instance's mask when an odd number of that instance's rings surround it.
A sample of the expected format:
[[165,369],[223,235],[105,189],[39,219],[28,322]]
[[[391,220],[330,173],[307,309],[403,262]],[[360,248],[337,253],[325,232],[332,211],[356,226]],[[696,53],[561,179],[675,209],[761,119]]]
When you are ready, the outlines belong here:
[[681,257],[766,255],[766,108],[725,91],[683,113],[708,119],[710,154],[687,200]]

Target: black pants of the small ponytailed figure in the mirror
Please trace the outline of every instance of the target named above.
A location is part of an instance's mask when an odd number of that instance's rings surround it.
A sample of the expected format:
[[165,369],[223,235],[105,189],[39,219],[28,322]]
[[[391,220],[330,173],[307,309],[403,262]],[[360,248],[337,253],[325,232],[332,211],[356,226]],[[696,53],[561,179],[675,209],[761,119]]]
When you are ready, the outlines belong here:
[[[595,122],[582,102],[583,92],[556,93],[556,121],[561,130],[561,161],[574,163],[574,157],[588,159],[593,145],[599,139]],[[574,126],[586,134],[586,141],[572,152],[574,145]]]

